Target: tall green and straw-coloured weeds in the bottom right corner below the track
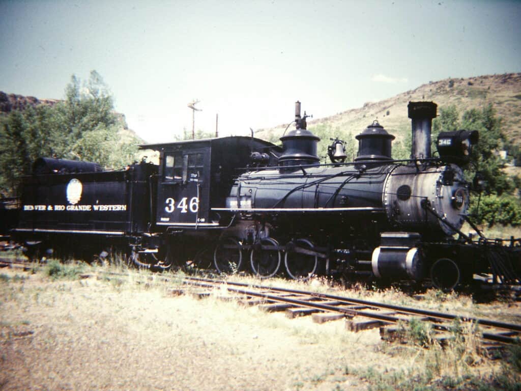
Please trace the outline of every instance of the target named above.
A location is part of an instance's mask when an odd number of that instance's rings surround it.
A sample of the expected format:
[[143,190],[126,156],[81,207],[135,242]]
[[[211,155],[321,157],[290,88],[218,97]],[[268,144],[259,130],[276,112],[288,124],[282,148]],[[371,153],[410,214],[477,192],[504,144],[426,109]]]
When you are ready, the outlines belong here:
[[504,368],[497,375],[473,374],[473,367],[489,360],[481,346],[476,323],[456,319],[448,332],[441,335],[443,339],[431,325],[416,320],[400,323],[398,332],[415,365],[406,372],[350,368],[349,372],[370,383],[371,390],[521,390],[521,345],[511,349]]

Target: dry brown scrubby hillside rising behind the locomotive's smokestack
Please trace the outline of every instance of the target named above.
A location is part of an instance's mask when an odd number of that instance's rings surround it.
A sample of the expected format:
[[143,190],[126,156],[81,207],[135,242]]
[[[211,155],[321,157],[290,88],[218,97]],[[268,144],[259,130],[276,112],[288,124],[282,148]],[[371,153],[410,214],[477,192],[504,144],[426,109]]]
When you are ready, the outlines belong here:
[[[400,141],[411,131],[411,121],[407,117],[410,101],[432,101],[438,104],[438,108],[455,105],[460,114],[470,108],[481,108],[492,103],[503,118],[503,131],[507,138],[521,144],[521,73],[429,82],[380,102],[368,102],[363,107],[331,117],[309,120],[308,128],[313,130],[319,125],[326,125],[339,135],[351,132],[354,137],[378,119],[380,125],[395,135],[396,141]],[[286,125],[259,130],[256,137],[276,140]],[[330,135],[334,136],[337,134]]]

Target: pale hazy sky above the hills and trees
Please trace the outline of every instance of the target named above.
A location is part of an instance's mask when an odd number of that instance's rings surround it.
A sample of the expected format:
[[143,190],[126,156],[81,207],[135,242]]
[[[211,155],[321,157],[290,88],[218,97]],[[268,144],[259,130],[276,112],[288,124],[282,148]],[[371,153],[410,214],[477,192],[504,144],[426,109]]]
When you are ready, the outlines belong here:
[[[249,135],[429,81],[521,71],[519,1],[5,1],[0,90],[62,99],[97,70],[147,142]],[[349,130],[349,129],[348,129]],[[356,129],[355,131],[357,131]]]

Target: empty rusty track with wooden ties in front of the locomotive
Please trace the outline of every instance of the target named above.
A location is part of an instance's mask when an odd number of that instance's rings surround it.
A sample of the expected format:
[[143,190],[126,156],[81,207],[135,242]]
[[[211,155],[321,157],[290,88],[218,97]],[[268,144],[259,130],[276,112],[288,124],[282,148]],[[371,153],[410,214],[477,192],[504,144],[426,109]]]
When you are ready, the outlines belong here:
[[[0,266],[29,266],[27,262],[0,258]],[[103,272],[106,275],[128,276],[126,273]],[[83,276],[87,277],[87,276]],[[157,276],[164,282],[171,279],[168,276]],[[179,281],[177,281],[179,282]],[[521,325],[505,322],[466,317],[457,314],[429,311],[411,307],[396,306],[337,295],[317,292],[266,287],[245,283],[230,282],[222,279],[185,276],[181,280],[181,288],[172,288],[173,295],[193,294],[201,298],[212,295],[216,289],[227,290],[228,295],[221,297],[226,300],[237,300],[247,306],[260,306],[267,312],[284,311],[293,319],[299,316],[311,316],[315,323],[331,321],[345,322],[345,327],[351,332],[361,332],[375,327],[380,328],[384,339],[393,339],[398,333],[396,325],[408,324],[414,321],[428,322],[443,340],[454,327],[457,319],[461,322],[473,322],[479,325],[481,338],[487,342],[513,344],[521,337]],[[194,288],[196,288],[194,290]],[[231,295],[230,295],[231,294]]]

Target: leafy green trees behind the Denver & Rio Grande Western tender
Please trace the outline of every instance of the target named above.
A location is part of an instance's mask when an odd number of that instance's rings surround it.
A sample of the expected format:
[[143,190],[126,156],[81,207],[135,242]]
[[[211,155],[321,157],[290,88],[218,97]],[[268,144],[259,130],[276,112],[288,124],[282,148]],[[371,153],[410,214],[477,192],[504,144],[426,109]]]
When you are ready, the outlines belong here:
[[0,117],[0,191],[14,196],[22,175],[40,156],[85,160],[105,168],[122,168],[137,152],[135,137],[122,138],[113,98],[102,77],[91,71],[82,83],[73,75],[65,100]]

